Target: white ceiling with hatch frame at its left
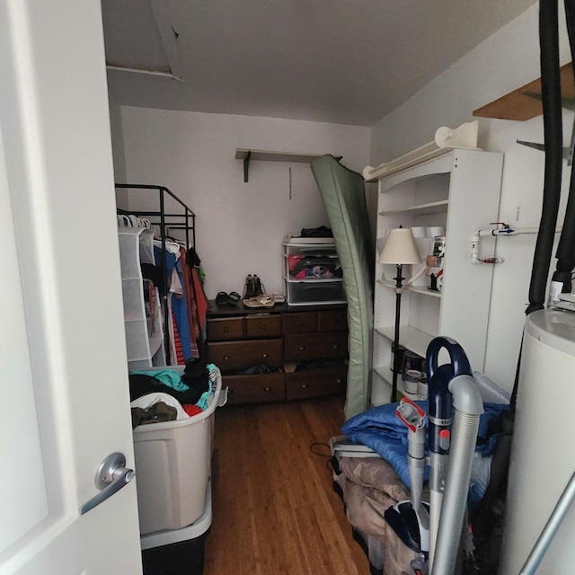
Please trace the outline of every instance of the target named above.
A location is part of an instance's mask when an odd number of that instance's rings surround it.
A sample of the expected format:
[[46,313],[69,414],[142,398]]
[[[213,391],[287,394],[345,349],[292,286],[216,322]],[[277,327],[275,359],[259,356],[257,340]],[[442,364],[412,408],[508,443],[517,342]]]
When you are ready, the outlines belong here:
[[109,64],[183,80],[109,70],[110,91],[131,106],[373,126],[532,4],[102,0]]

